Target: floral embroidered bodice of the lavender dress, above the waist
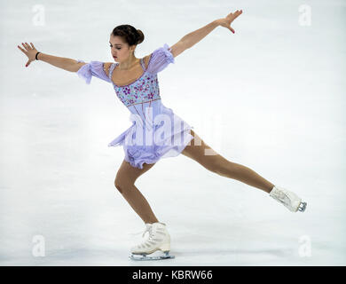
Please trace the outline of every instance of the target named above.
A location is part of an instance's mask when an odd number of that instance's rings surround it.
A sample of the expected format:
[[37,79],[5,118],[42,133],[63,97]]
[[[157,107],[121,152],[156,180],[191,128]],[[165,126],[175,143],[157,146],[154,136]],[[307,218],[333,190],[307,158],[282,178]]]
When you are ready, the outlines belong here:
[[113,71],[114,68],[118,65],[119,63],[113,63],[109,68],[109,79],[114,86],[116,96],[122,101],[125,106],[129,107],[132,105],[145,103],[150,104],[153,100],[161,99],[157,74],[146,72],[143,59],[140,59],[140,65],[143,69],[143,74],[135,82],[128,85],[119,86],[113,82]]

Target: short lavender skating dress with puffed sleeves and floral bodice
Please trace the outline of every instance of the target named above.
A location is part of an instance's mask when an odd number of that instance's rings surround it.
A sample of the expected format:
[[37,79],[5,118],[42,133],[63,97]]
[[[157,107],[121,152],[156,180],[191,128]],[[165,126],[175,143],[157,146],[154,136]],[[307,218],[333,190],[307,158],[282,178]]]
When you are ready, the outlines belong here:
[[123,146],[125,161],[139,169],[143,169],[144,163],[155,163],[161,158],[177,156],[185,146],[191,145],[193,139],[190,133],[193,127],[161,101],[157,74],[169,63],[174,63],[174,57],[169,45],[165,43],[153,51],[146,70],[143,59],[140,59],[143,74],[125,86],[118,86],[111,79],[119,63],[111,65],[109,76],[104,71],[104,63],[99,61],[90,61],[77,71],[77,75],[88,84],[92,76],[112,83],[116,96],[128,107],[132,125],[108,146]]

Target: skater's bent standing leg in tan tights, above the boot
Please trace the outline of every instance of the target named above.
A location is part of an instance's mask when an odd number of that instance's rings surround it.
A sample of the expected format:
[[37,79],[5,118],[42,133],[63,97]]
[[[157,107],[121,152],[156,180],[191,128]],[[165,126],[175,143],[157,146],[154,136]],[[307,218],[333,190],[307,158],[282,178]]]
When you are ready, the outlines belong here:
[[150,208],[148,201],[142,193],[139,192],[135,185],[135,182],[139,176],[145,171],[151,169],[154,164],[144,164],[143,169],[134,168],[129,162],[125,160],[122,162],[122,166],[118,170],[114,185],[118,189],[122,196],[129,202],[132,209],[136,211],[139,217],[146,223],[159,222],[153,214],[153,210]]

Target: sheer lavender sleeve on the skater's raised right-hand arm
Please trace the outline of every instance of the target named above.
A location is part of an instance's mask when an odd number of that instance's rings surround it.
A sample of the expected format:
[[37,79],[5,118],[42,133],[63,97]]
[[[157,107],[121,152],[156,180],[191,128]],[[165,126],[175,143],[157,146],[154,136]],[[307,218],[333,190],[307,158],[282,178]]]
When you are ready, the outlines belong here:
[[159,73],[166,68],[169,63],[174,64],[175,61],[173,54],[170,52],[169,45],[164,43],[163,47],[159,47],[153,51],[149,59],[147,71],[152,74]]

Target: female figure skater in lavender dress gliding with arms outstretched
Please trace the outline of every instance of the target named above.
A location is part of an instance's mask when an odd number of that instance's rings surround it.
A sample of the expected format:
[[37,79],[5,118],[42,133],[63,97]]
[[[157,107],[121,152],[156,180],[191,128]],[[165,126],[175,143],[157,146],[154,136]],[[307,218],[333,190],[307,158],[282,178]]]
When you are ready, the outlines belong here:
[[[162,158],[184,154],[220,176],[239,180],[269,193],[273,199],[293,212],[304,211],[306,207],[306,202],[295,193],[273,185],[254,170],[230,162],[221,154],[217,154],[192,130],[193,127],[161,102],[157,74],[169,63],[175,63],[179,54],[200,42],[214,28],[218,26],[228,28],[234,34],[231,23],[241,13],[242,10],[237,10],[223,19],[213,20],[203,28],[182,37],[171,47],[165,43],[163,47],[157,48],[142,59],[138,59],[134,54],[137,45],[144,40],[142,31],[130,25],[118,26],[114,28],[109,39],[115,63],[100,61],[85,63],[83,60],[56,57],[36,51],[33,43],[30,45],[22,43],[24,49],[18,46],[20,51],[28,56],[26,67],[34,60],[41,60],[55,67],[76,72],[88,84],[92,76],[98,77],[111,83],[116,96],[128,107],[133,121],[131,127],[114,138],[108,146],[123,147],[125,156],[116,174],[114,185],[146,226],[143,233],[144,240],[130,249],[132,256],[158,259],[147,255],[161,250],[165,252],[165,256],[159,258],[174,257],[169,256],[170,236],[166,224],[159,222],[155,217],[149,203],[135,185],[138,177],[150,170]],[[138,141],[143,142],[144,137],[144,145],[138,143]],[[210,154],[210,151],[213,154]]]

